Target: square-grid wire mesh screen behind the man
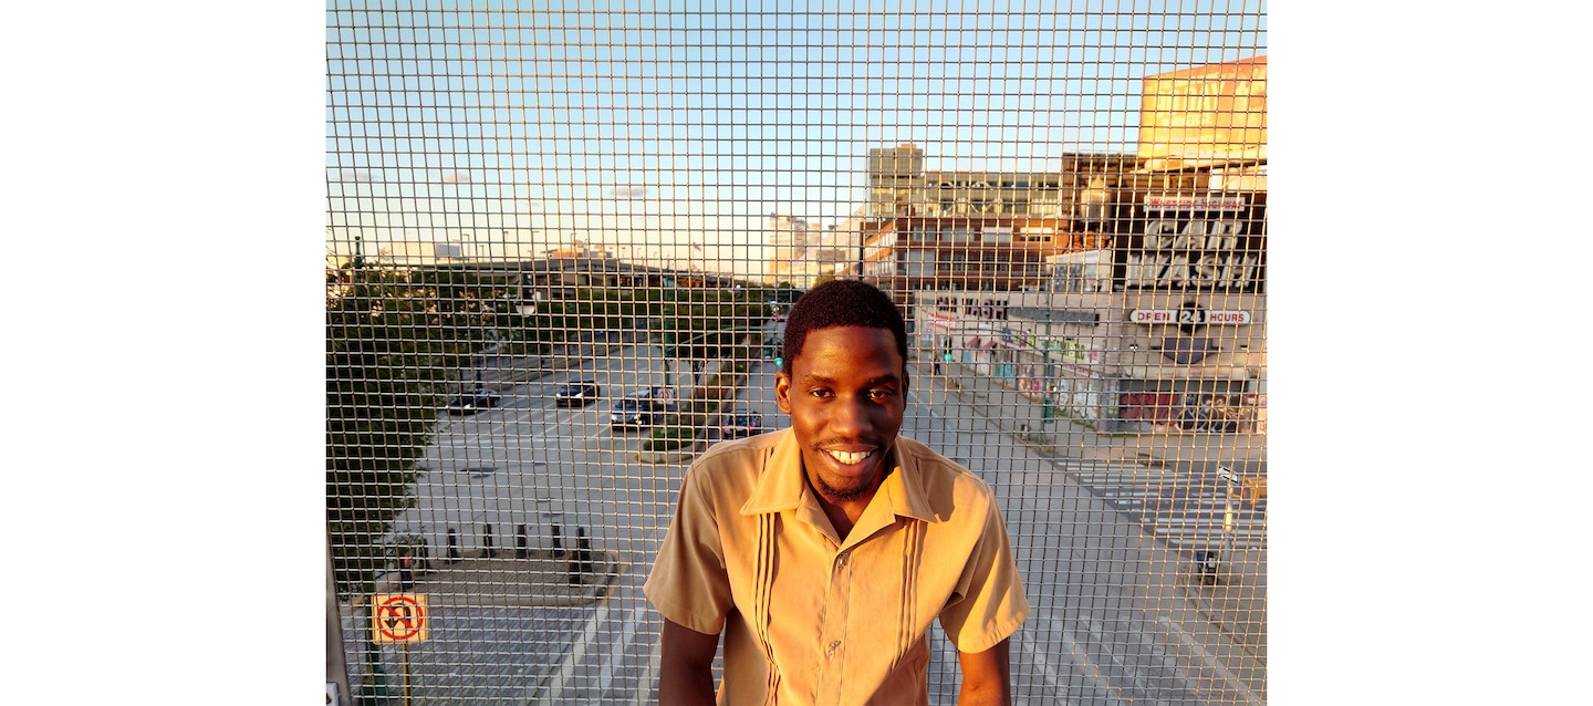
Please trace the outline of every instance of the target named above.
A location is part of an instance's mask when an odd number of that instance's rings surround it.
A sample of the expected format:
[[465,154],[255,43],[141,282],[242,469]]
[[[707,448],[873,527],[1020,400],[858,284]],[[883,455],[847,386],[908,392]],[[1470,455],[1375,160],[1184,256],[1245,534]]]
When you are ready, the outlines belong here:
[[832,279],[898,304],[902,433],[1000,505],[1013,703],[1265,703],[1265,5],[750,6],[328,3],[358,703],[656,703],[682,478],[790,427]]

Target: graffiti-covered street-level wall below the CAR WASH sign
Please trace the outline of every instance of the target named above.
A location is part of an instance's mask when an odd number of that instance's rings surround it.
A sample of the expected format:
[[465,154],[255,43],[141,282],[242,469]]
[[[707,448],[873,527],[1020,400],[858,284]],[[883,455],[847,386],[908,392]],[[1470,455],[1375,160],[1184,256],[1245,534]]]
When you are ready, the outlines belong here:
[[1260,293],[922,290],[914,301],[937,373],[989,378],[1099,430],[1265,429]]

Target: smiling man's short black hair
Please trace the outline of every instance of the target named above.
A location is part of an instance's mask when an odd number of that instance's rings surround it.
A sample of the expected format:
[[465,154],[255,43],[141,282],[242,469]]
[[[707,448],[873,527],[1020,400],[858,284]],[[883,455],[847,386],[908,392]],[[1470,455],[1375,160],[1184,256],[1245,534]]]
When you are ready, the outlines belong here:
[[902,382],[906,384],[906,322],[902,311],[878,287],[857,279],[832,279],[796,300],[785,317],[785,347],[781,371],[792,373],[792,360],[801,354],[808,331],[833,327],[886,328],[897,339],[902,354]]

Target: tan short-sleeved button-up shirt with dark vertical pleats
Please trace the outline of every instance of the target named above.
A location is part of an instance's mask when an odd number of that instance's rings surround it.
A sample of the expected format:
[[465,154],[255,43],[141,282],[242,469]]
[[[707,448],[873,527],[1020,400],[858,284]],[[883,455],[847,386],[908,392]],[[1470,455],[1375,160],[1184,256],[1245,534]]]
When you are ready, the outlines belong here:
[[978,477],[897,437],[895,467],[846,540],[781,430],[687,472],[648,601],[725,633],[722,704],[929,703],[930,620],[984,652],[1029,615],[1007,526]]

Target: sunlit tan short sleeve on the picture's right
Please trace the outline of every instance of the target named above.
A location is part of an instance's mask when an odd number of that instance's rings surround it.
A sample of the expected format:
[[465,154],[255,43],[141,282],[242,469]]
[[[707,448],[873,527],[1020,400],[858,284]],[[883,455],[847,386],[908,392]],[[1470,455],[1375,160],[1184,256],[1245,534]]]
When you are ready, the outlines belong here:
[[957,580],[961,598],[940,612],[940,626],[959,652],[984,652],[1029,617],[1029,599],[1012,558],[1007,523],[991,500],[984,529]]

